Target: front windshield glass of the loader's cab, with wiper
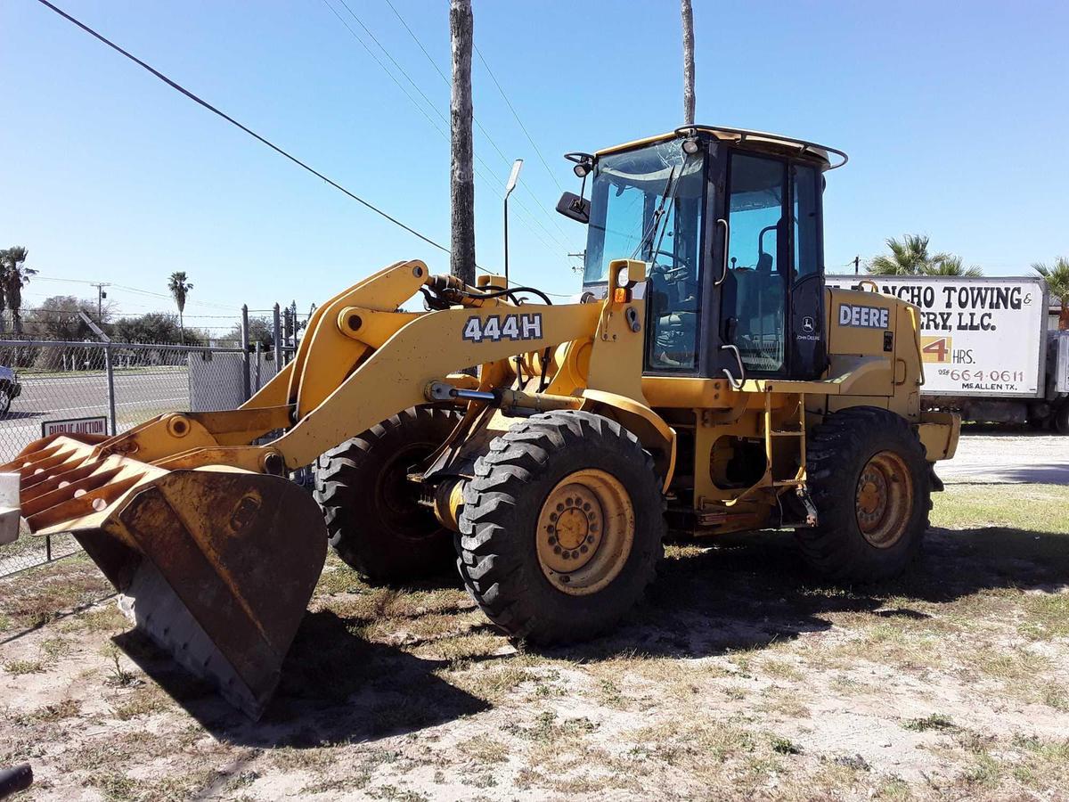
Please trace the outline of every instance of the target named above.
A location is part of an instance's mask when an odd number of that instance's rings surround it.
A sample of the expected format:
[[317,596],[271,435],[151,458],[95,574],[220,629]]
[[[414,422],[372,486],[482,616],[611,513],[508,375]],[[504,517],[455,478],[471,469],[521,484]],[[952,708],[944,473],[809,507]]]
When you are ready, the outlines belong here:
[[647,263],[648,370],[698,367],[704,161],[676,139],[602,156],[594,170],[583,282],[606,281],[614,259]]

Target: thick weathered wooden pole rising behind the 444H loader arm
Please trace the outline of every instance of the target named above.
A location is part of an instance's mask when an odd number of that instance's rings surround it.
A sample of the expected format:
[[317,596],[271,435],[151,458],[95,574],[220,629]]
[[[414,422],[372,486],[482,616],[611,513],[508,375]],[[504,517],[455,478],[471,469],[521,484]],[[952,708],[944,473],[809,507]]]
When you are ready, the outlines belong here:
[[471,0],[449,0],[449,272],[475,284],[475,170],[471,143]]

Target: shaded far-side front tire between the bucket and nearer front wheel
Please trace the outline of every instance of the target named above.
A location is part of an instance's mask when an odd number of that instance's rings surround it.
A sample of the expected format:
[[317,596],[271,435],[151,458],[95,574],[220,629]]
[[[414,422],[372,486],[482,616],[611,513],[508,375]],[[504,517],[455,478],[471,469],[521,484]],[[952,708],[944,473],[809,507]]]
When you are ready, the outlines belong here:
[[449,565],[452,535],[418,503],[408,469],[460,419],[452,410],[414,406],[319,458],[315,500],[335,552],[375,583],[420,579]]

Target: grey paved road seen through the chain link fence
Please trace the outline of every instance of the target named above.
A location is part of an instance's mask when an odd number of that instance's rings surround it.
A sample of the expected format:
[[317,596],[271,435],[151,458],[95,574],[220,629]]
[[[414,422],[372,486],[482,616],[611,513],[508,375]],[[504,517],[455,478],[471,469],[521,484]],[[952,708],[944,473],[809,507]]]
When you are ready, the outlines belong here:
[[[22,395],[0,419],[0,460],[9,460],[41,436],[44,420],[108,414],[108,382],[104,374],[24,377]],[[189,381],[184,369],[115,373],[115,417],[120,430],[167,410],[189,406]]]

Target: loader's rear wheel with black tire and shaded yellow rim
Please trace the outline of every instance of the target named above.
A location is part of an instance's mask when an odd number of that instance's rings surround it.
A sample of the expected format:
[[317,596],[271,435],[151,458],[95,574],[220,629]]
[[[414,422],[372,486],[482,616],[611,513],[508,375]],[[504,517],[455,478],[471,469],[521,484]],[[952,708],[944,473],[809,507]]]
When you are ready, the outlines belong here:
[[834,413],[809,437],[806,462],[818,516],[796,530],[806,561],[849,582],[901,573],[931,509],[925,449],[905,419],[871,406]]

